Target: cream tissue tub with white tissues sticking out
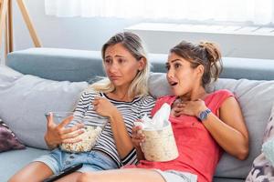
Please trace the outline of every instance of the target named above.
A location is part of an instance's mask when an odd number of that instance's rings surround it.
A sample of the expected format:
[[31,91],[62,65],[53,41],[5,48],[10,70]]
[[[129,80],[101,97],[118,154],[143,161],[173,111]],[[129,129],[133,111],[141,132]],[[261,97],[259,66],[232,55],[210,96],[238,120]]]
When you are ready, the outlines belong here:
[[170,161],[178,157],[174,132],[169,122],[171,107],[168,104],[156,112],[153,119],[142,117],[142,133],[145,141],[141,144],[145,159],[150,161]]

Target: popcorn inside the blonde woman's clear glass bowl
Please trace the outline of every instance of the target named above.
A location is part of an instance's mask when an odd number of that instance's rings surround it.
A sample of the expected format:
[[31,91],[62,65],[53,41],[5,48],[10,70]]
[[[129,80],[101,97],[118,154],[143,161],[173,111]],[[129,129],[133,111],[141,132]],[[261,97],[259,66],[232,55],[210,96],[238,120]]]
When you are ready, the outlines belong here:
[[101,130],[100,126],[86,126],[85,132],[77,136],[82,139],[80,142],[61,144],[60,148],[71,153],[88,152],[96,144]]

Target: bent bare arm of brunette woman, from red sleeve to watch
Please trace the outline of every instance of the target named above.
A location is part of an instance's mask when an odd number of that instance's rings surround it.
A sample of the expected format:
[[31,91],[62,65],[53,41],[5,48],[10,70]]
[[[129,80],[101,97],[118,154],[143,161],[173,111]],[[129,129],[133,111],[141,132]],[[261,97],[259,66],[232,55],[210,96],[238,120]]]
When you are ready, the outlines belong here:
[[248,129],[235,97],[229,96],[223,102],[219,116],[210,113],[203,121],[204,126],[228,154],[245,159],[248,157]]

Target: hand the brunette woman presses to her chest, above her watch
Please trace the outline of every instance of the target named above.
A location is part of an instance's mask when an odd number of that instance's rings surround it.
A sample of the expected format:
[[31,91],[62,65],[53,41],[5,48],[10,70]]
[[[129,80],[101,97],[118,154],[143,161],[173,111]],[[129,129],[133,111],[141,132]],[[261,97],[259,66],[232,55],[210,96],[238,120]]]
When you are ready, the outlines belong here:
[[172,114],[174,116],[199,116],[199,114],[206,108],[205,101],[202,99],[195,101],[174,102]]

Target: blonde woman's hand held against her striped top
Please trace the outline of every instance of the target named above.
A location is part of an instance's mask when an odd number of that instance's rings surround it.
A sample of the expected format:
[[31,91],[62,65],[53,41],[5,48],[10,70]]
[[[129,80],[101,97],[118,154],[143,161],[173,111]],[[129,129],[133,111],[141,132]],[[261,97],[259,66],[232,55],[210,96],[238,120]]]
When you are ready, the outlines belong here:
[[93,101],[94,110],[100,115],[100,116],[114,116],[119,112],[118,108],[111,104],[111,102],[100,96],[95,96]]

